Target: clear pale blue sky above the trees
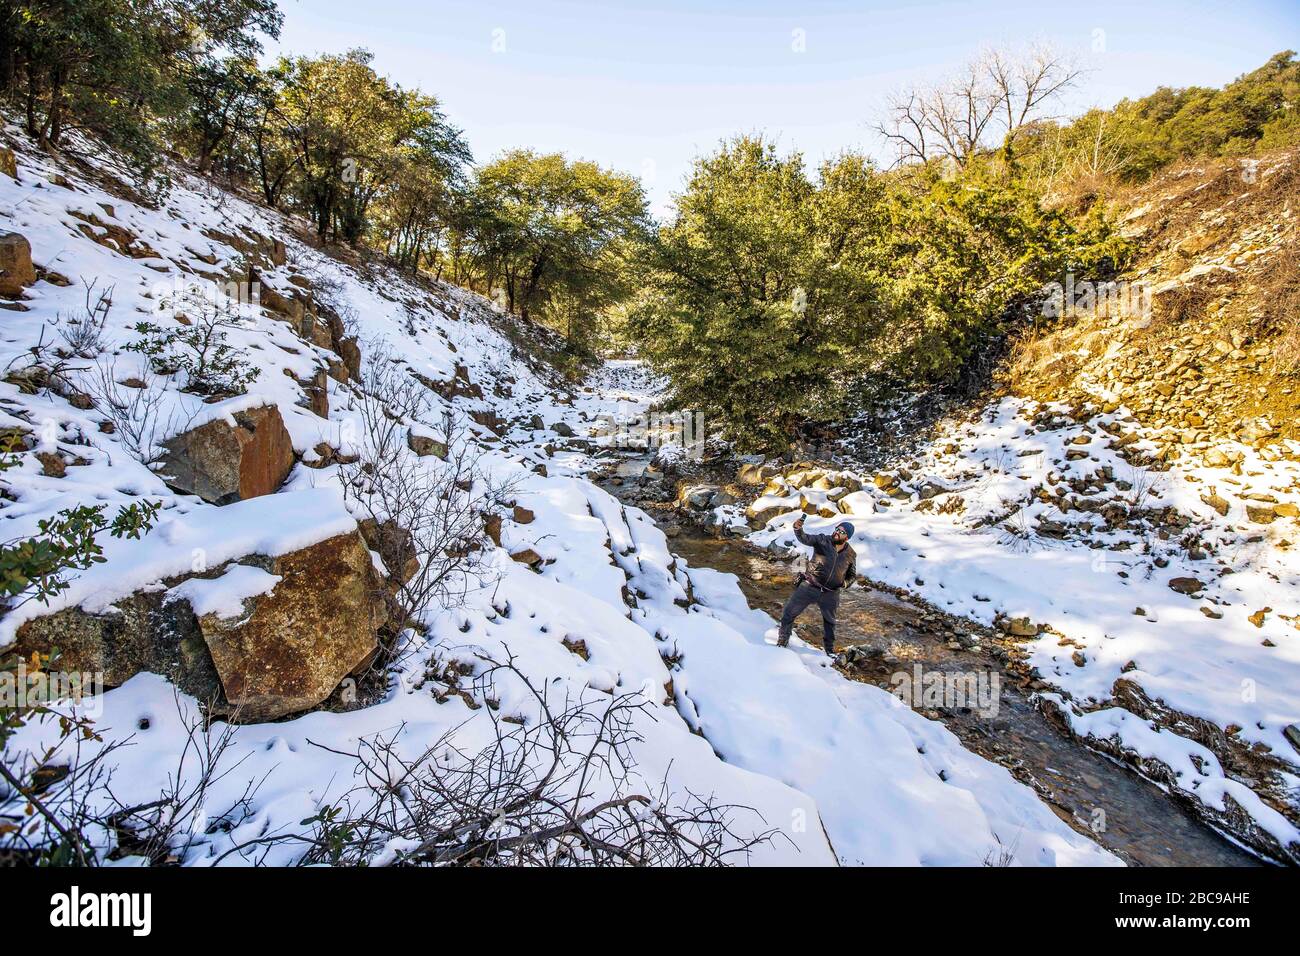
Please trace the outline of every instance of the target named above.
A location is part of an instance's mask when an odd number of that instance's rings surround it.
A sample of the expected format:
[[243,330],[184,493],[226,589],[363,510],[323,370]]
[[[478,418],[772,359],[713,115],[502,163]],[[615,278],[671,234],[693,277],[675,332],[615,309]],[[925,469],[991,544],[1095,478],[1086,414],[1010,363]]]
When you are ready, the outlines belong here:
[[774,134],[810,161],[845,147],[892,159],[870,129],[884,98],[983,46],[1074,53],[1089,73],[1067,113],[1160,85],[1219,86],[1300,48],[1300,0],[280,5],[269,53],[367,47],[381,73],[442,100],[476,160],[515,146],[595,160],[641,177],[656,212],[692,160],[734,133]]

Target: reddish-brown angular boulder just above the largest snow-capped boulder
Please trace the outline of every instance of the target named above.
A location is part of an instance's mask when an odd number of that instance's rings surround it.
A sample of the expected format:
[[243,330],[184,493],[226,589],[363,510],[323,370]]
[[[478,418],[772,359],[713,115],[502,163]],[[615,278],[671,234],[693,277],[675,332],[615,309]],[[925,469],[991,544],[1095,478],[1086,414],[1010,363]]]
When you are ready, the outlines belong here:
[[273,494],[294,467],[294,446],[273,405],[207,421],[162,444],[162,476],[214,505]]

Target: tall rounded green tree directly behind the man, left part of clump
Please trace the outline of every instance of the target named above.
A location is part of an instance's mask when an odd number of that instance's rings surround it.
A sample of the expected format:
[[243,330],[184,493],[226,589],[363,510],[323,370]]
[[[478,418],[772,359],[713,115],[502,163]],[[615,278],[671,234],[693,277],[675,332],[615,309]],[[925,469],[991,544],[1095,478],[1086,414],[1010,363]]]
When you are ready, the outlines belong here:
[[725,421],[748,447],[776,447],[828,419],[888,312],[880,281],[884,193],[844,157],[819,187],[798,153],[760,138],[697,163],[677,217],[650,243],[629,315],[675,401]]

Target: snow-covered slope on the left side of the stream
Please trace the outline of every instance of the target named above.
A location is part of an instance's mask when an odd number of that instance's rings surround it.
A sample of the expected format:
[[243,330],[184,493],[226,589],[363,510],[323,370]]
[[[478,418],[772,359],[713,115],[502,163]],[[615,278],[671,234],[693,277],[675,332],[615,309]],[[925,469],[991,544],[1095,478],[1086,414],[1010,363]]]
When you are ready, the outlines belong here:
[[[66,177],[66,185],[56,185],[56,177]],[[413,756],[450,735],[473,750],[491,740],[491,714],[537,721],[537,701],[511,674],[472,691],[473,706],[441,693],[447,684],[439,675],[448,665],[481,671],[485,657],[507,656],[556,700],[604,706],[630,695],[644,701],[634,780],[650,792],[664,787],[667,800],[705,795],[753,808],[758,818],[740,814],[737,826],[774,830],[779,839],[759,847],[750,862],[1118,864],[1006,770],[965,750],[941,724],[884,691],[842,679],[806,646],[771,646],[763,636],[771,620],[745,605],[734,578],[688,567],[645,514],[586,480],[588,455],[549,450],[560,420],[578,434],[598,431],[601,410],[616,411],[620,399],[634,406],[645,401],[644,392],[602,389],[575,401],[512,345],[500,316],[482,300],[450,287],[430,293],[380,268],[342,265],[292,238],[280,216],[185,174],[153,209],[26,152],[18,182],[0,176],[0,217],[6,229],[27,237],[39,267],[70,280],[65,286],[36,282],[26,290],[27,311],[4,313],[0,365],[6,371],[30,363],[38,342],[57,339],[68,315],[84,304],[82,282],[94,281],[113,289],[103,352],[69,377],[81,381],[77,376],[94,375],[99,364],[118,381],[147,377],[143,356],[122,346],[138,338],[138,321],[181,323],[166,289],[178,278],[243,271],[234,237],[250,230],[277,237],[287,246],[287,263],[263,271],[263,282],[289,294],[298,274],[330,289],[355,324],[363,360],[386,345],[413,373],[446,381],[460,367],[481,386],[480,397],[434,397],[425,420],[412,424],[437,434],[443,415],[452,415],[481,446],[481,464],[510,480],[516,502],[536,515],[529,523],[503,519],[502,546],[493,548],[467,602],[428,615],[428,636],[411,636],[377,704],[234,728],[225,756],[230,769],[198,808],[183,864],[244,864],[250,857],[229,853],[231,847],[303,827],[302,821],[355,784],[347,754],[363,740],[391,739]],[[91,238],[109,226],[130,230],[150,254],[133,258]],[[335,358],[256,303],[242,303],[239,311],[231,343],[260,371],[248,394],[203,405],[178,390],[179,380],[164,377],[157,382],[162,419],[192,425],[273,403],[302,462],[320,464],[321,442],[347,453],[359,432],[352,386],[329,378],[329,415],[321,418],[302,385]],[[488,411],[506,423],[499,436],[469,418]],[[162,503],[152,533],[108,541],[107,562],[78,576],[51,606],[27,604],[0,619],[0,646],[34,615],[72,605],[108,609],[133,591],[185,572],[198,553],[207,566],[250,553],[280,554],[326,540],[355,519],[338,492],[337,466],[299,463],[278,493],[222,507],[177,494],[120,434],[100,429],[101,418],[53,392],[31,394],[0,384],[0,428],[20,429],[32,441],[18,467],[0,479],[6,540],[34,533],[42,518],[78,503]],[[46,473],[38,453],[64,458],[66,473]],[[441,466],[434,457],[420,462],[429,470]],[[510,558],[523,548],[541,555],[538,567]],[[181,588],[205,609],[230,611],[278,583],[274,575],[246,571]],[[688,585],[696,601],[689,605]],[[577,641],[585,654],[571,649]],[[482,706],[488,700],[494,706]],[[140,674],[92,706],[104,741],[126,741],[110,754],[124,803],[155,799],[169,774],[195,773],[192,763],[178,769],[178,756],[196,702],[161,678]],[[55,734],[52,724],[34,723],[10,748],[38,753]],[[87,741],[83,753],[101,745]],[[234,805],[243,809],[228,826],[208,826]],[[292,853],[292,845],[280,845],[269,861],[289,862]]]

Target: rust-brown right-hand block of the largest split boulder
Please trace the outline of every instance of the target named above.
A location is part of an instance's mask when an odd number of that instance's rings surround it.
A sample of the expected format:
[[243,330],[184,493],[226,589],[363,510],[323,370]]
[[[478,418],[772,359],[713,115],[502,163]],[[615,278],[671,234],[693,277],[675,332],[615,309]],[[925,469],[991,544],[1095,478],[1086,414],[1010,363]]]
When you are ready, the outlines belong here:
[[246,563],[280,580],[233,618],[198,618],[225,704],[243,721],[316,706],[378,650],[387,611],[370,553],[351,532]]

